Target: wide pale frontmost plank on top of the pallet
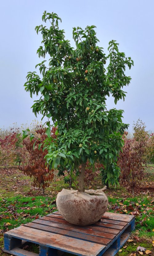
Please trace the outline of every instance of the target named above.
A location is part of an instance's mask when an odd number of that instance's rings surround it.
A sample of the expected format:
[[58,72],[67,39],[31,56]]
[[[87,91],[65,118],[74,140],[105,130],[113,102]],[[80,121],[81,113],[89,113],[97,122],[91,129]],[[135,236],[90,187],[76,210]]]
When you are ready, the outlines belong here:
[[96,256],[105,245],[95,244],[67,236],[61,236],[45,231],[38,231],[33,228],[20,226],[7,232],[13,237],[40,244],[41,246],[60,249],[65,252],[71,252],[76,255]]

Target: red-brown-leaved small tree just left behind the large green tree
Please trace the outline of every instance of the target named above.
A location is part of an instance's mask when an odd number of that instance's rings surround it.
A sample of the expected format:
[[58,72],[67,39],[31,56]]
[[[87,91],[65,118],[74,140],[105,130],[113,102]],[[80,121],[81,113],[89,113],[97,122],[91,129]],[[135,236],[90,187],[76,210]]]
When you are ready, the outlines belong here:
[[[51,136],[55,138],[55,129],[52,130]],[[46,128],[40,126],[35,131],[35,135],[30,134],[30,139],[25,138],[23,140],[23,145],[29,153],[29,159],[26,166],[19,167],[19,170],[22,170],[24,174],[34,177],[32,185],[42,188],[43,195],[45,194],[45,188],[50,185],[49,181],[52,181],[54,177],[54,170],[49,170],[44,159],[47,150],[43,149],[43,142],[46,138]]]

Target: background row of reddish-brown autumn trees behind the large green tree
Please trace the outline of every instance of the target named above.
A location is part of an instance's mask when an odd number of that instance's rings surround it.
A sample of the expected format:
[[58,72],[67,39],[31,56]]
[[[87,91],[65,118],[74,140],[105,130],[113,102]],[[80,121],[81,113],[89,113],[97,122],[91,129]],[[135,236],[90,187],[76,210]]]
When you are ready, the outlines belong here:
[[[56,139],[55,131],[56,128],[51,130],[52,139]],[[0,166],[18,165],[24,174],[33,177],[32,185],[42,188],[44,194],[45,188],[54,178],[54,170],[47,168],[44,158],[47,154],[47,150],[43,151],[43,143],[47,138],[46,128],[39,125],[32,132],[30,139],[22,140],[19,129],[11,128],[5,136],[0,137]],[[128,132],[124,132],[123,140],[123,151],[120,152],[117,162],[121,169],[119,181],[134,194],[135,188],[144,177],[144,165],[154,163],[154,133],[146,131],[145,124],[139,119],[133,126],[133,136],[130,138]],[[72,168],[69,165],[66,169],[58,167],[57,172],[59,176],[64,176],[65,183],[69,183],[71,188]],[[84,178],[87,188],[98,175],[101,175],[102,183],[107,185],[103,165],[96,163],[95,168],[92,168],[87,161]],[[73,186],[75,187],[74,184]]]

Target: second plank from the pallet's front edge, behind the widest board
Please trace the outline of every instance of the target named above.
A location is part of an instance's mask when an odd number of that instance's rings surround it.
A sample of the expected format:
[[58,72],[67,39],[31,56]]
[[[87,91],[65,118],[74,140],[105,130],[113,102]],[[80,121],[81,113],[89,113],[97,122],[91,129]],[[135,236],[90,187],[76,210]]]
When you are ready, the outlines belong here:
[[46,231],[46,232],[50,232],[50,233],[63,235],[63,236],[77,238],[77,239],[81,239],[81,240],[84,240],[84,241],[89,241],[89,242],[97,243],[97,244],[101,244],[101,245],[107,245],[111,241],[111,239],[108,239],[108,238],[105,238],[105,237],[92,236],[90,234],[83,234],[83,233],[78,233],[78,232],[74,232],[74,231],[70,231],[70,230],[64,230],[64,229],[55,228],[55,227],[51,228],[51,227],[43,226],[43,225],[40,225],[40,224],[37,224],[37,223],[27,223],[23,226],[24,227],[35,228],[37,230],[42,230],[42,231]]

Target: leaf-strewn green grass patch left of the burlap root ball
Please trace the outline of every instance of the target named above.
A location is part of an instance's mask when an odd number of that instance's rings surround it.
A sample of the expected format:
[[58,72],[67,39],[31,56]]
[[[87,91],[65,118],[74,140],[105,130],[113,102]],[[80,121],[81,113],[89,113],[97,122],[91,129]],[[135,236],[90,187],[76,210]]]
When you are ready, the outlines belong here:
[[[56,210],[53,197],[15,196],[0,200],[0,229],[10,230]],[[53,202],[53,203],[52,203]]]

